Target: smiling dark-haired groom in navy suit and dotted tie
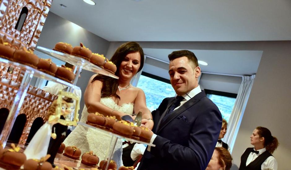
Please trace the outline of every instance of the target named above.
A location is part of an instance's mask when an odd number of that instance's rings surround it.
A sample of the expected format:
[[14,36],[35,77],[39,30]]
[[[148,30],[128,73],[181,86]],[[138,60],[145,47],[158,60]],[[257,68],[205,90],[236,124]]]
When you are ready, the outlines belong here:
[[178,96],[165,98],[152,112],[153,135],[138,170],[205,170],[220,133],[217,106],[198,85],[198,60],[188,50],[169,54],[169,74]]

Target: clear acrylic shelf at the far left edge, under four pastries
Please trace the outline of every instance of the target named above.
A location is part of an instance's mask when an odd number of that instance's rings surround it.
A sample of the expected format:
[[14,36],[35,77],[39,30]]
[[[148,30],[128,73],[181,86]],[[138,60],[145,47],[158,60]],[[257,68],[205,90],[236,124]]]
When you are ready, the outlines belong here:
[[11,64],[11,65],[14,65],[14,66],[18,66],[18,67],[21,67],[22,69],[25,69],[25,70],[32,70],[34,73],[33,73],[33,76],[34,77],[38,77],[38,78],[41,78],[41,79],[46,79],[46,80],[49,80],[49,81],[53,81],[53,82],[56,82],[56,83],[60,83],[60,84],[63,84],[65,86],[68,86],[68,87],[72,87],[73,89],[80,89],[80,87],[78,86],[75,86],[71,83],[68,83],[64,80],[61,80],[61,79],[58,79],[56,77],[53,77],[49,74],[46,74],[42,71],[39,71],[35,68],[32,68],[30,66],[27,66],[27,65],[24,65],[24,64],[20,64],[18,62],[12,62],[10,60],[7,60],[7,59],[4,59],[4,58],[1,58],[0,57],[0,62],[3,62],[3,63],[7,63],[7,64]]

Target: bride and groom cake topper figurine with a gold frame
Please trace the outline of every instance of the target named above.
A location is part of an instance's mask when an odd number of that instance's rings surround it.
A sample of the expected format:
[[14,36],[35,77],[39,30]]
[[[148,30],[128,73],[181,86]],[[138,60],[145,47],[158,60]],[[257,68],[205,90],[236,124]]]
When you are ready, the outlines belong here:
[[[74,100],[76,100],[76,108],[74,107]],[[75,110],[75,114],[74,120],[70,121],[67,117],[72,113],[72,109]],[[53,128],[53,125],[60,123],[62,126],[66,127],[66,130],[68,125],[76,125],[78,110],[79,98],[72,93],[60,91],[58,99],[54,100],[49,107],[46,123],[42,125],[33,136],[24,151],[27,159],[41,159],[41,157],[46,156],[48,153],[50,138],[53,138],[52,141],[59,141],[58,139],[63,138],[63,132],[60,133],[57,127]],[[57,147],[57,149],[58,148],[59,147]],[[50,155],[53,156],[52,154]]]

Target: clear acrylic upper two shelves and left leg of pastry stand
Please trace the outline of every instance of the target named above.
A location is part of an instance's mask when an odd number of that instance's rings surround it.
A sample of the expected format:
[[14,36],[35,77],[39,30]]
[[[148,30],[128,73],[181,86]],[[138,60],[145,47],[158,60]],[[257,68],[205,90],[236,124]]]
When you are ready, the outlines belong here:
[[[14,102],[13,102],[13,104],[11,106],[9,115],[7,117],[7,120],[5,122],[4,128],[2,130],[2,133],[0,135],[0,140],[3,143],[3,147],[5,147],[5,145],[6,145],[6,142],[8,140],[9,134],[11,133],[12,127],[13,127],[14,122],[15,122],[15,119],[16,119],[16,117],[18,115],[19,109],[20,109],[20,107],[21,107],[21,105],[22,105],[22,103],[24,101],[24,97],[25,97],[26,92],[28,90],[30,81],[31,81],[31,79],[33,77],[46,79],[46,80],[50,80],[50,81],[53,81],[53,82],[56,82],[56,83],[63,84],[63,85],[68,87],[67,91],[70,91],[70,92],[72,92],[73,89],[80,89],[80,87],[76,86],[76,83],[78,81],[78,78],[79,78],[79,75],[80,75],[80,72],[81,72],[82,69],[85,69],[85,70],[88,70],[88,71],[92,71],[92,72],[95,72],[95,73],[98,73],[98,74],[103,74],[103,75],[110,76],[110,77],[113,77],[115,79],[118,79],[118,77],[115,76],[114,74],[111,74],[108,71],[103,70],[102,68],[93,65],[92,63],[86,61],[85,59],[83,59],[81,57],[72,56],[72,55],[69,55],[69,54],[61,53],[61,52],[54,51],[54,50],[51,50],[51,49],[47,49],[47,48],[44,48],[44,47],[37,47],[37,50],[41,51],[42,53],[48,54],[48,55],[50,55],[52,57],[55,57],[55,58],[57,58],[59,60],[62,60],[64,62],[68,62],[68,63],[76,66],[75,70],[74,70],[74,73],[76,74],[75,79],[73,80],[72,83],[68,83],[68,82],[63,81],[61,79],[53,77],[53,76],[51,76],[49,74],[41,72],[41,71],[39,71],[37,69],[34,69],[34,68],[30,67],[30,66],[23,65],[23,64],[20,64],[18,62],[12,62],[12,61],[0,58],[0,62],[7,63],[7,64],[9,64],[11,66],[20,67],[21,68],[20,72],[22,72],[22,74],[24,75],[23,79],[21,81],[21,85],[20,85],[19,89],[17,89],[18,90],[17,94],[16,94]],[[41,58],[41,56],[38,56],[38,57]]]

